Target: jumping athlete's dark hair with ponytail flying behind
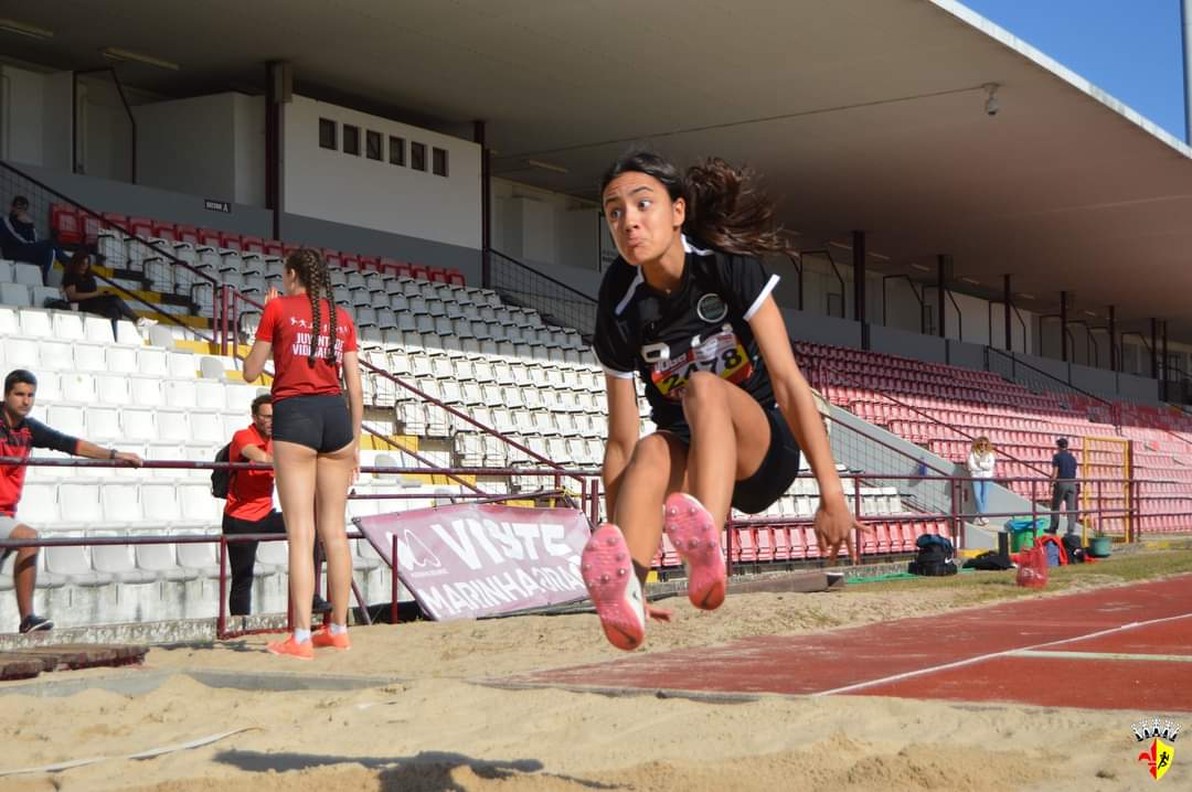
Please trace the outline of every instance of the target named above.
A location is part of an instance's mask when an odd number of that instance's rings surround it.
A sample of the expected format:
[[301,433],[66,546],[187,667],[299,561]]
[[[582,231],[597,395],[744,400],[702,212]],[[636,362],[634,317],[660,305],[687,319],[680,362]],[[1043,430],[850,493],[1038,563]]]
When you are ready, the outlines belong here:
[[753,173],[710,157],[681,176],[678,168],[659,155],[634,149],[604,173],[601,193],[625,173],[644,173],[666,188],[671,200],[687,201],[683,231],[726,252],[759,255],[795,252],[774,223],[774,202],[756,187]]

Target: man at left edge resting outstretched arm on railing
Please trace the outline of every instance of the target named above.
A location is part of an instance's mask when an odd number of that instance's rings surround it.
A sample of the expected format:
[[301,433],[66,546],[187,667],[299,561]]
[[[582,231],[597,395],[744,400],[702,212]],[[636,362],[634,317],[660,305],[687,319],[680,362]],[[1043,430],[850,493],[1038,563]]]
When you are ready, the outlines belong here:
[[[86,456],[92,460],[124,460],[141,464],[136,454],[100,448],[85,439],[76,439],[54,431],[39,420],[29,417],[37,395],[37,378],[25,369],[15,369],[4,379],[4,407],[0,409],[0,456],[29,459],[35,448],[49,448],[63,454]],[[18,522],[17,504],[25,486],[24,464],[0,466],[0,540],[36,540],[37,531]],[[7,556],[11,548],[0,551]],[[54,623],[33,613],[33,586],[37,582],[37,548],[17,549],[17,562],[12,570],[13,587],[17,590],[17,610],[20,612],[20,631],[49,630]]]

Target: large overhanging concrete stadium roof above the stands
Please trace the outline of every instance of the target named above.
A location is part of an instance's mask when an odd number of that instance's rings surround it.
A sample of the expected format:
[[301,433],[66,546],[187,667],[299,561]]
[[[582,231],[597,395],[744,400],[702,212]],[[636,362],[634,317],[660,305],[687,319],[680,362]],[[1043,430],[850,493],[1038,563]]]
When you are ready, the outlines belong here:
[[156,55],[181,70],[122,74],[168,94],[260,85],[265,61],[287,60],[299,87],[411,120],[485,119],[496,175],[584,198],[632,142],[683,163],[714,154],[765,175],[805,249],[862,229],[875,272],[946,252],[991,289],[1012,274],[1038,298],[1026,307],[1068,289],[1192,338],[1192,150],[952,0],[328,8],[27,4],[20,21],[54,38],[5,44],[60,68],[104,63],[101,46]]

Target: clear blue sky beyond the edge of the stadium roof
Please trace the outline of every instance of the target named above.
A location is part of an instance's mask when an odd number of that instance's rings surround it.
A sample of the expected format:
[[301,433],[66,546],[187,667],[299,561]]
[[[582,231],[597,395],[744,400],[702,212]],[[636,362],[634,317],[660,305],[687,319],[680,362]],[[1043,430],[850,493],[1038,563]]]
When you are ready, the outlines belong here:
[[1180,0],[961,0],[1179,139]]

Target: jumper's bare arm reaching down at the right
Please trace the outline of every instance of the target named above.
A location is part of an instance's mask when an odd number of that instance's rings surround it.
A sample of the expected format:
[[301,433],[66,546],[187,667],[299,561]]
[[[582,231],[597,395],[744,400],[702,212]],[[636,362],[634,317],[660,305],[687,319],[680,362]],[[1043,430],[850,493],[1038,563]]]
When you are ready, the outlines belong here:
[[859,526],[844,498],[844,487],[836,472],[832,447],[815,406],[812,387],[799,370],[795,354],[790,349],[787,323],[772,297],[765,298],[749,324],[770,373],[774,397],[819,482],[820,505],[815,513],[815,535],[820,548],[828,550],[828,557],[834,559],[844,543],[852,556],[852,531]]

